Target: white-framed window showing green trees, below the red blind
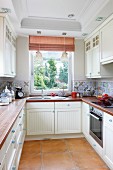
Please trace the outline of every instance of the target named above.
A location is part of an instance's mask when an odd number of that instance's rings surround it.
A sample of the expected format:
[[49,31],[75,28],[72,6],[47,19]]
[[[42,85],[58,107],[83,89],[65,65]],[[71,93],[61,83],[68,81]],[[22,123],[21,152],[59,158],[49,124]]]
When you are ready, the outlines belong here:
[[71,65],[73,52],[68,60],[62,61],[63,51],[40,51],[43,61],[36,59],[36,51],[29,51],[31,58],[31,93],[58,92],[71,90]]

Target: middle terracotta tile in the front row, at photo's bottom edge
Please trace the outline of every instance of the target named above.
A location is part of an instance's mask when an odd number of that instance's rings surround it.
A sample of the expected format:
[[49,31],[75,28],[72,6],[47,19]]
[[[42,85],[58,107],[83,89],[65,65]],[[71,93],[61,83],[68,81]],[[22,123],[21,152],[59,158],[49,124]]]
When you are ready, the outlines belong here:
[[44,153],[43,170],[76,170],[69,153]]

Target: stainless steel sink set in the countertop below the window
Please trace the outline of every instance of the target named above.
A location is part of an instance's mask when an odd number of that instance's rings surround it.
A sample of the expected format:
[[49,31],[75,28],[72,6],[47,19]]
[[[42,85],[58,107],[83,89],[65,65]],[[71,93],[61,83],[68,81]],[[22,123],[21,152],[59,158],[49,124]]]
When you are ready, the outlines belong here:
[[63,100],[65,99],[66,97],[59,97],[59,96],[35,96],[35,97],[28,97],[27,100]]

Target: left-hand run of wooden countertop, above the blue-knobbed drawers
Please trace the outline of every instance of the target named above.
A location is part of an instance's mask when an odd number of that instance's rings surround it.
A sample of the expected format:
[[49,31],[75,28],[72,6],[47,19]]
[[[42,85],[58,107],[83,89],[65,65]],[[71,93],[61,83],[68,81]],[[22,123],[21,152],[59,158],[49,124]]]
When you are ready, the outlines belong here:
[[0,106],[0,149],[25,102],[26,99],[18,99],[8,106]]

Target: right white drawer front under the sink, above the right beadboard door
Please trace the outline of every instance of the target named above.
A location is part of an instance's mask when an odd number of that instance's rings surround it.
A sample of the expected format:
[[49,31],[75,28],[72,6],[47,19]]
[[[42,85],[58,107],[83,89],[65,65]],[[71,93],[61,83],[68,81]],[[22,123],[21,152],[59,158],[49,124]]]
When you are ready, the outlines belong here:
[[81,107],[81,102],[56,102],[55,109],[75,109]]

